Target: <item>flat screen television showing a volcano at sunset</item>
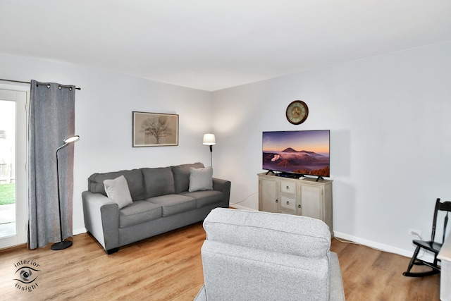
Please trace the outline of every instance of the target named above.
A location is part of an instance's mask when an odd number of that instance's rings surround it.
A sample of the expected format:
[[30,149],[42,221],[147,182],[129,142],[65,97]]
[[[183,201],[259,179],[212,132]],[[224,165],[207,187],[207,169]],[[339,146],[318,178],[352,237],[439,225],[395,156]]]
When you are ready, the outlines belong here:
[[279,176],[330,176],[330,130],[263,132],[263,169]]

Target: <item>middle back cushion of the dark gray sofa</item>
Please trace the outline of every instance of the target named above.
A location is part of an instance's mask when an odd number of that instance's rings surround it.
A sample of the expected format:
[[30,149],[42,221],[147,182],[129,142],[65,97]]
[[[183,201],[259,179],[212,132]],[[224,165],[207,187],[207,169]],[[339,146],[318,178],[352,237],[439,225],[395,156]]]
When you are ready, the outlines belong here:
[[174,177],[171,167],[141,168],[141,171],[144,176],[146,199],[174,193]]

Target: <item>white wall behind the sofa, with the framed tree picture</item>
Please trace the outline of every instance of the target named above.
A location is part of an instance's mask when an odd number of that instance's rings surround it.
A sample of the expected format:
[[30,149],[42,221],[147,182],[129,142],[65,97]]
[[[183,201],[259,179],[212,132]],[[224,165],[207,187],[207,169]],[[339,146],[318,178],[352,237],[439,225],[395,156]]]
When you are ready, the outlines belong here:
[[[81,193],[96,172],[202,161],[209,149],[211,92],[166,85],[54,61],[0,54],[0,78],[59,82],[81,87],[75,95],[73,231],[85,232]],[[132,147],[132,111],[179,114],[179,145]]]

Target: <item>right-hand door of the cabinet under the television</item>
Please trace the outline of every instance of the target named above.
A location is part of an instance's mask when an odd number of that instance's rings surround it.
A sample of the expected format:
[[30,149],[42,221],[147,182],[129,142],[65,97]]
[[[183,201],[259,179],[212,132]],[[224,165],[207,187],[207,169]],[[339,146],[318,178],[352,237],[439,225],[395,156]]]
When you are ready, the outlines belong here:
[[324,219],[323,188],[301,185],[301,211],[303,216]]

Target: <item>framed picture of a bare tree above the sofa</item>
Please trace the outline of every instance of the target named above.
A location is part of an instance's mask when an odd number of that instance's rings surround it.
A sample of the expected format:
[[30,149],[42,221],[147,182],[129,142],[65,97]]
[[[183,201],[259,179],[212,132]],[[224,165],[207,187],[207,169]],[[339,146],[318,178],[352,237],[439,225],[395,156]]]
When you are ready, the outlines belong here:
[[132,147],[178,145],[178,115],[132,112]]

